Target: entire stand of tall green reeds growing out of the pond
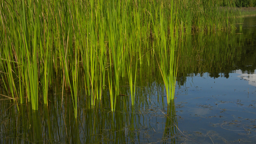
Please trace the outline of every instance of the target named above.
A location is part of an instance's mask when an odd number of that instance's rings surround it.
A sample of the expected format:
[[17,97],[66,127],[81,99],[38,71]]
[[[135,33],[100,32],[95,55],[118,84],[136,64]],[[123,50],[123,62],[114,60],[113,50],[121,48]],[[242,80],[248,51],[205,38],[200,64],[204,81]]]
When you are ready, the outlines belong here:
[[[226,6],[234,4],[227,1]],[[1,88],[16,104],[31,103],[38,110],[38,102],[48,104],[48,91],[60,79],[62,99],[70,92],[75,117],[81,87],[89,106],[106,93],[115,111],[120,78],[129,78],[134,105],[137,65],[156,59],[171,103],[178,41],[193,31],[234,30],[237,23],[242,27],[234,9],[220,9],[221,3],[213,0],[2,1]]]

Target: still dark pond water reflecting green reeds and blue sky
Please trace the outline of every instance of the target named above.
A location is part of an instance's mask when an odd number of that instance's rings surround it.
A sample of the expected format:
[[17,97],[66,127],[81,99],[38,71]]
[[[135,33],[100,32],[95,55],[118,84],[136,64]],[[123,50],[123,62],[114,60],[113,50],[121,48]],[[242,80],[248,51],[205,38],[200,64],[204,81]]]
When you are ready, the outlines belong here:
[[0,144],[256,143],[256,17],[246,17],[243,29],[228,33],[184,36],[180,45],[172,104],[167,105],[156,59],[148,65],[144,58],[135,105],[123,77],[114,113],[107,97],[94,108],[88,105],[82,84],[76,119],[69,93],[61,101],[61,86],[38,111],[19,105],[18,112],[15,104],[1,100]]

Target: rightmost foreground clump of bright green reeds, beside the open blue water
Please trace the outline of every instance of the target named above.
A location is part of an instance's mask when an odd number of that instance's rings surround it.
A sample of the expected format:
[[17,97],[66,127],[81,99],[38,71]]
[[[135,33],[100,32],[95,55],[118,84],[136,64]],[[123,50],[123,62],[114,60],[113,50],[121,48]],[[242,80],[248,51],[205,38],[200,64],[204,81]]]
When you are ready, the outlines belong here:
[[[167,45],[166,42],[166,33],[167,33],[167,23],[163,21],[163,14],[162,9],[160,9],[160,64],[159,68],[161,71],[161,76],[164,81],[167,103],[169,104],[171,100],[174,99],[174,92],[175,92],[175,84],[176,84],[176,75],[177,75],[177,60],[175,57],[175,50],[177,37],[175,36],[174,29],[177,25],[174,25],[173,21],[177,21],[177,14],[175,15],[176,11],[176,4],[172,1],[171,3],[171,18],[169,24],[170,30],[170,42]],[[182,26],[182,25],[181,25]],[[169,53],[169,55],[167,55]]]

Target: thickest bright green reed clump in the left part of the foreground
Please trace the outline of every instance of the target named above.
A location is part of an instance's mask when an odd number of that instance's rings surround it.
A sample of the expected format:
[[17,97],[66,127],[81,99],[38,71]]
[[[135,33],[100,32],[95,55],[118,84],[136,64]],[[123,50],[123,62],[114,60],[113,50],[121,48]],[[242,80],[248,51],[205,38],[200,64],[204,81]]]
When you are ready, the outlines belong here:
[[[38,73],[37,73],[37,49],[38,49],[38,29],[39,29],[39,15],[41,12],[41,1],[38,1],[38,5],[35,3],[34,6],[37,7],[36,16],[33,18],[31,13],[31,20],[32,20],[32,27],[33,31],[29,31],[29,27],[27,27],[27,19],[26,15],[29,15],[29,13],[25,13],[25,1],[22,0],[22,7],[23,7],[23,19],[22,19],[22,31],[23,31],[23,39],[25,45],[23,45],[25,49],[24,56],[27,57],[27,65],[25,65],[25,69],[28,72],[27,74],[27,82],[29,82],[30,88],[27,89],[28,97],[30,96],[32,109],[37,110],[38,109]],[[28,9],[31,9],[29,6]],[[33,9],[33,7],[32,7]],[[33,35],[28,35],[26,32],[33,32]],[[32,37],[32,38],[31,38]],[[31,40],[31,41],[29,41]],[[29,45],[31,43],[31,45]],[[31,47],[30,47],[31,46]]]

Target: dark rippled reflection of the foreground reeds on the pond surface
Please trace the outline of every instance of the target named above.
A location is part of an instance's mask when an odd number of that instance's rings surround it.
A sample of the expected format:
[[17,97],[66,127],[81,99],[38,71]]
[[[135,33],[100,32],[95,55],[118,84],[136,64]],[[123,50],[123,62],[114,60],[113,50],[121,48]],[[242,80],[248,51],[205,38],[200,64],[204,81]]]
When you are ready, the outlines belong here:
[[176,141],[178,123],[174,104],[166,112],[155,105],[156,99],[147,101],[148,108],[124,104],[122,110],[114,113],[105,108],[80,107],[77,119],[72,107],[69,108],[72,103],[62,108],[51,103],[41,107],[41,111],[21,105],[20,113],[10,116],[9,112],[16,109],[11,105],[1,114],[1,143],[147,143],[155,141],[155,136],[158,142]]

